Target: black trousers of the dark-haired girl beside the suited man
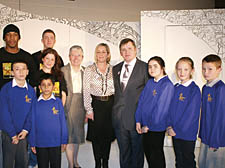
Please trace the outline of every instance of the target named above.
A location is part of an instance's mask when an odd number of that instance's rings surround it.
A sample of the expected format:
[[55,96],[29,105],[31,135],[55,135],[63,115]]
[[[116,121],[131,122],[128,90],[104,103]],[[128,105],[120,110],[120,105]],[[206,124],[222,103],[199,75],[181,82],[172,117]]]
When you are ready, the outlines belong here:
[[163,151],[165,131],[149,131],[143,134],[144,153],[149,168],[165,168],[166,161]]

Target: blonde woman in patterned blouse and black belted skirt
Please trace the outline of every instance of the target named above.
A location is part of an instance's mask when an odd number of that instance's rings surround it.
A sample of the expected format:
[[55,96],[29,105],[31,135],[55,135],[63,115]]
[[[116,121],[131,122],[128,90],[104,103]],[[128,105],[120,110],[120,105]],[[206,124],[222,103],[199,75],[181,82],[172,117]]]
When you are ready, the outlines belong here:
[[95,48],[95,63],[84,71],[84,106],[87,111],[87,140],[92,142],[95,168],[108,168],[111,142],[114,85],[109,46],[100,43]]

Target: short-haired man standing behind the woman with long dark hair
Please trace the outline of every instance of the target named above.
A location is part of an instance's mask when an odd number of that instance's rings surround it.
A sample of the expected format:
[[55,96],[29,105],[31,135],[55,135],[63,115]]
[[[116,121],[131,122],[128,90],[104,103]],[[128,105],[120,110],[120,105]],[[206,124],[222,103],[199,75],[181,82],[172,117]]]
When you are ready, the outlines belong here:
[[[47,48],[53,48],[56,42],[56,35],[55,32],[51,29],[46,29],[43,33],[42,33],[42,38],[41,38],[41,42],[43,44],[43,50],[37,51],[35,53],[32,54],[34,62],[36,64],[37,70],[41,69],[41,55],[42,52],[47,49]],[[62,58],[59,56],[60,58],[60,63],[59,63],[59,67],[63,67],[64,63]]]

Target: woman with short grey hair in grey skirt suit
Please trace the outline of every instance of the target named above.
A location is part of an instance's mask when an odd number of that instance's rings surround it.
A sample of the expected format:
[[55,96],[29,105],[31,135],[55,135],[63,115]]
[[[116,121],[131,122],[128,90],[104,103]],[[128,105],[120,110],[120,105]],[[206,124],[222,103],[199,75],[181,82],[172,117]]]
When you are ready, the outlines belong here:
[[65,104],[65,113],[68,124],[69,141],[66,146],[68,168],[79,168],[77,161],[79,144],[84,143],[85,110],[83,103],[83,49],[74,45],[70,48],[70,63],[62,67],[66,80],[68,95]]

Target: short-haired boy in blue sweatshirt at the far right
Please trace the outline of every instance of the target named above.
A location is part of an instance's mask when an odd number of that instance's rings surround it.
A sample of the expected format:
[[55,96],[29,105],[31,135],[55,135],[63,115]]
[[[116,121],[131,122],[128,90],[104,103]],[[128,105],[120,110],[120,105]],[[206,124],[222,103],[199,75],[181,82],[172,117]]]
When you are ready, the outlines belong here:
[[202,74],[207,83],[202,89],[199,168],[224,168],[225,165],[225,84],[219,80],[221,64],[217,55],[202,60]]

